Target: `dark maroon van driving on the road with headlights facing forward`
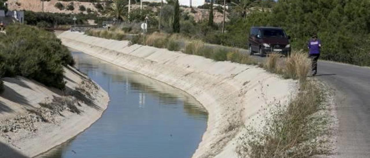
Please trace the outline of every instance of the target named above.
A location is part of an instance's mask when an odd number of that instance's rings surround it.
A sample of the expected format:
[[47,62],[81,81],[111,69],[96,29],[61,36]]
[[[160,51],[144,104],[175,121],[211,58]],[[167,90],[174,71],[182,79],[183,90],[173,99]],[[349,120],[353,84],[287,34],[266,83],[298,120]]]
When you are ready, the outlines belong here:
[[290,37],[282,28],[252,27],[249,34],[249,54],[258,52],[260,56],[270,53],[290,54]]

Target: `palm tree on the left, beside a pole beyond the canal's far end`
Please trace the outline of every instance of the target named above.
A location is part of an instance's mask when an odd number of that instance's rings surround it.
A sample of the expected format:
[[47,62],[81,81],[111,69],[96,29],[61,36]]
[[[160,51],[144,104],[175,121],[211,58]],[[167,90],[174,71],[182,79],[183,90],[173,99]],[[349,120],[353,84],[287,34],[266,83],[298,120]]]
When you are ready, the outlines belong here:
[[125,0],[114,0],[114,3],[107,8],[107,16],[115,17],[118,23],[121,23],[121,20],[124,20],[127,15],[125,6]]

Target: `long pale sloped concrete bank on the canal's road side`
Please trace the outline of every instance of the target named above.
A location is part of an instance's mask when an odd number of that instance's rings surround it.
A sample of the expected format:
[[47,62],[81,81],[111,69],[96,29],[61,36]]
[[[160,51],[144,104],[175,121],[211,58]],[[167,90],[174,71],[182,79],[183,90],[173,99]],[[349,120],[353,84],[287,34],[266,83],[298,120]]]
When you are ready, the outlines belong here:
[[[64,45],[177,87],[207,110],[208,126],[193,157],[237,157],[243,125],[258,126],[272,102],[286,102],[296,85],[254,65],[215,62],[142,45],[63,32]],[[253,121],[252,121],[253,120]]]

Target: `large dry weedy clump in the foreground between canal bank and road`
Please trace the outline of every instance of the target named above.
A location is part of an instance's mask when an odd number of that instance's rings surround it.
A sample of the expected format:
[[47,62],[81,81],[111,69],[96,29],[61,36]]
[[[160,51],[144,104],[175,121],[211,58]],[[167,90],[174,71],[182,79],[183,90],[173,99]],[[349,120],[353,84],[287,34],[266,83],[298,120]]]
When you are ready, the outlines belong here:
[[300,82],[300,91],[287,106],[280,103],[270,109],[269,119],[261,128],[248,127],[248,132],[241,137],[238,146],[240,157],[310,157],[316,154],[328,154],[329,147],[320,136],[326,131],[324,116],[315,115],[325,100],[325,94],[313,81]]

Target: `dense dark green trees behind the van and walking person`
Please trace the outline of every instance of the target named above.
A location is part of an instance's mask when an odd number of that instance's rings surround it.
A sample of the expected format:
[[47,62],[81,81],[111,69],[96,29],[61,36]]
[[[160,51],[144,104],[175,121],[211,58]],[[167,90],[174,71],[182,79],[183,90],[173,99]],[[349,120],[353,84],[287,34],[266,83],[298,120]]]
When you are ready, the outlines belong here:
[[[252,11],[245,18],[230,14],[223,44],[246,48],[252,26],[282,27],[292,37],[292,48],[307,50],[317,33],[322,41],[320,58],[370,65],[370,1],[288,0],[266,2],[271,11]],[[262,4],[261,4],[262,5]]]

